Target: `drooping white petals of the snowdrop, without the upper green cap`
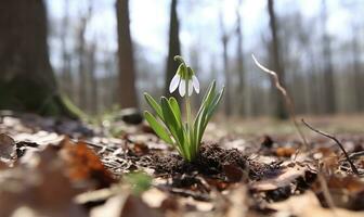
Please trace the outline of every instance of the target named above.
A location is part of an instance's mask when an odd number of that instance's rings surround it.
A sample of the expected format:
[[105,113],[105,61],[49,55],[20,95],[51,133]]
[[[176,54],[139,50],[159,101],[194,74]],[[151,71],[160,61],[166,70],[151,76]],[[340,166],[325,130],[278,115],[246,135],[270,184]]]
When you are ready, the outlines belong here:
[[[193,90],[196,93],[199,93],[199,82],[195,75],[180,75],[179,72],[173,76],[170,85],[169,92],[174,92],[179,88],[179,93],[181,97],[184,97],[186,93],[192,95]],[[187,88],[187,89],[186,89]]]

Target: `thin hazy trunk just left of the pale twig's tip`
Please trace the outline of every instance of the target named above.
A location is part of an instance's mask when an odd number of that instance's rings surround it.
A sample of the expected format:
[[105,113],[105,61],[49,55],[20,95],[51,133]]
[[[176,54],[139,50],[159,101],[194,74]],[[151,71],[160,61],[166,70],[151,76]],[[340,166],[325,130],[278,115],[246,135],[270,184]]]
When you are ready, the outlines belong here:
[[238,88],[237,88],[237,94],[240,95],[240,102],[239,102],[239,111],[238,113],[240,115],[244,115],[245,110],[245,98],[246,95],[244,93],[244,87],[245,87],[245,69],[244,69],[244,51],[243,51],[243,30],[242,30],[242,15],[239,13],[239,9],[242,8],[243,0],[238,1],[238,5],[236,8],[236,37],[237,37],[237,46],[236,46],[236,56],[237,56],[237,73],[238,73]]

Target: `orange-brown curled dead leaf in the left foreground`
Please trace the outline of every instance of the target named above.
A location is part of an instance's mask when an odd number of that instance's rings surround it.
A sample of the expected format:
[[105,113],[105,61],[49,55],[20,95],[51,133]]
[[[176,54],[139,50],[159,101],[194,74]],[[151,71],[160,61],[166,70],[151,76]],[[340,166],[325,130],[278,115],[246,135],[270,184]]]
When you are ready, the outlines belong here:
[[99,156],[84,142],[75,143],[65,139],[62,146],[62,157],[66,162],[67,175],[72,180],[93,182],[96,189],[107,188],[116,182]]

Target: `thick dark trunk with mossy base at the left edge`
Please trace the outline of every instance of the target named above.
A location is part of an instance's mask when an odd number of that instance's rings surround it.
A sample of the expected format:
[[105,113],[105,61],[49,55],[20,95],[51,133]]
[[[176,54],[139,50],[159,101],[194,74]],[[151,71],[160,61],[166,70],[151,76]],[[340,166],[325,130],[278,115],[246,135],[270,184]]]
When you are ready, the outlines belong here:
[[1,1],[0,110],[72,115],[57,92],[47,34],[43,1]]

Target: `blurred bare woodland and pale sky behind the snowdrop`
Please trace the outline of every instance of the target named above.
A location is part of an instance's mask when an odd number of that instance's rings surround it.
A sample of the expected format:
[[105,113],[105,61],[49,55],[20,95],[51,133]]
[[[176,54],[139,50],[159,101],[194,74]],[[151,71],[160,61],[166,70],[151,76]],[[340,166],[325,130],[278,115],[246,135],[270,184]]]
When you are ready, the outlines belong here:
[[363,5],[360,0],[4,1],[0,105],[63,113],[61,92],[89,114],[143,107],[144,91],[169,95],[173,56],[182,54],[196,69],[202,91],[211,79],[226,86],[222,113],[285,118],[281,94],[252,64],[255,53],[281,74],[298,114],[363,113]]

